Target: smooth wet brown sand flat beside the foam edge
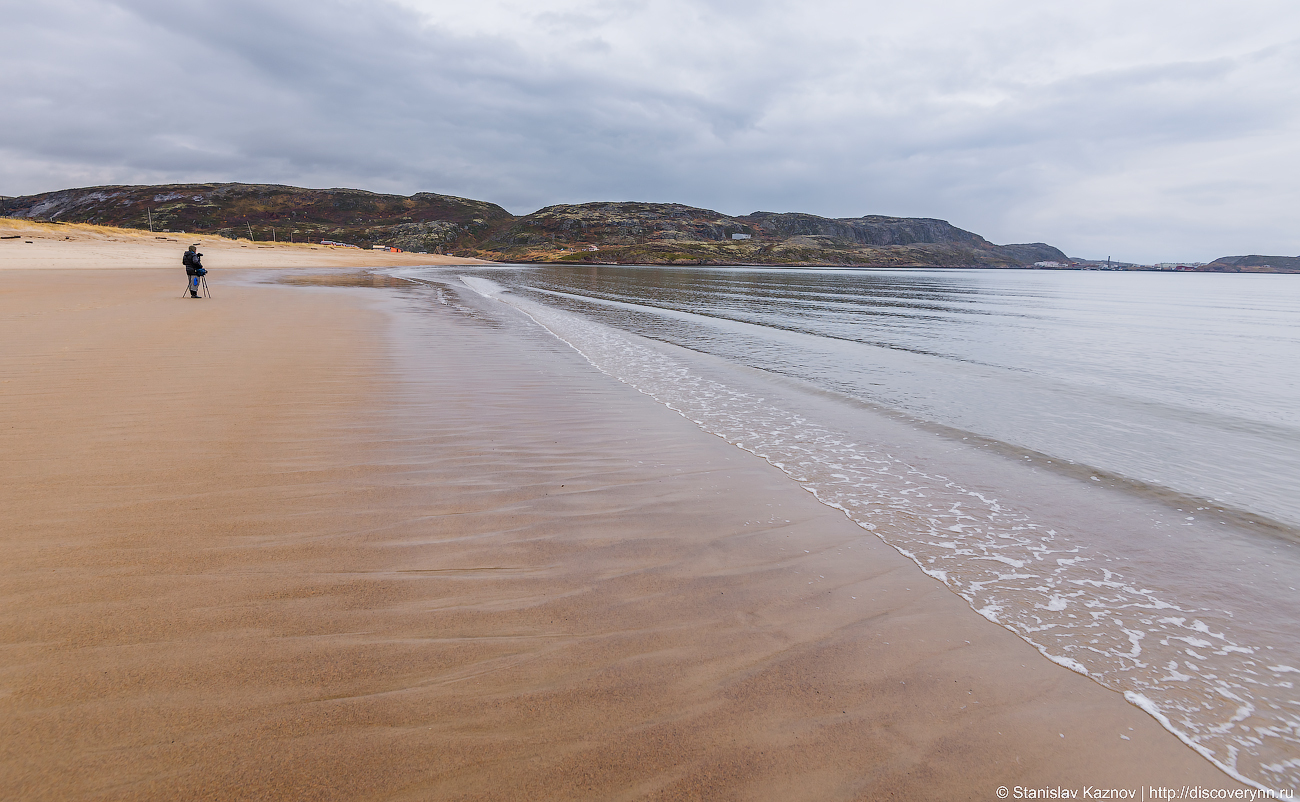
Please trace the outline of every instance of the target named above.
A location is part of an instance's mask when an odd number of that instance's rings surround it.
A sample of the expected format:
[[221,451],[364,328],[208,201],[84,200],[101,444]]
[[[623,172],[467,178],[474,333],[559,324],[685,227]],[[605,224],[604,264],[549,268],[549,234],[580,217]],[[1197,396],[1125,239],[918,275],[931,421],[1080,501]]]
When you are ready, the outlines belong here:
[[0,270],[0,798],[1235,786],[510,311],[181,283]]

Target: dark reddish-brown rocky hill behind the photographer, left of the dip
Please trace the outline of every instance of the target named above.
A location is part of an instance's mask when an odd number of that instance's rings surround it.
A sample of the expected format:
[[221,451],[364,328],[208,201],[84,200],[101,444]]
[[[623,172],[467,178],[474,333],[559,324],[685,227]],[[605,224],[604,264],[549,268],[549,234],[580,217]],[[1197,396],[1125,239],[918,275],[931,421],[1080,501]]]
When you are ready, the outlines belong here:
[[514,216],[494,203],[419,192],[304,190],[266,183],[181,183],[61,190],[0,199],[0,216],[259,240],[330,239],[407,251],[471,246]]

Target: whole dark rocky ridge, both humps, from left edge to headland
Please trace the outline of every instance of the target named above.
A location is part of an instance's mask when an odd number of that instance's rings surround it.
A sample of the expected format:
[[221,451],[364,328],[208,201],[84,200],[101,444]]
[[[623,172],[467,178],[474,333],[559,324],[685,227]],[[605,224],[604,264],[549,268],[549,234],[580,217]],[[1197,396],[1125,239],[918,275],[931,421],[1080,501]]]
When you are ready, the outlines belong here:
[[[0,214],[255,239],[393,244],[499,261],[1026,266],[1044,243],[996,246],[944,220],[732,217],[675,203],[560,204],[516,217],[481,200],[281,185],[101,186],[0,198]],[[738,238],[736,235],[740,235]]]

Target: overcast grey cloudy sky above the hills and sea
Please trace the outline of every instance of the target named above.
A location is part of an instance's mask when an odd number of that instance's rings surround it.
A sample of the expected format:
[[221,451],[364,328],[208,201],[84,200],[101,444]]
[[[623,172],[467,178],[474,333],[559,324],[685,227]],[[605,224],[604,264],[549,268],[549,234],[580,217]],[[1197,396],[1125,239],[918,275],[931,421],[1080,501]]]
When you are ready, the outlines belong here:
[[1296,0],[0,9],[0,195],[244,181],[1300,253]]

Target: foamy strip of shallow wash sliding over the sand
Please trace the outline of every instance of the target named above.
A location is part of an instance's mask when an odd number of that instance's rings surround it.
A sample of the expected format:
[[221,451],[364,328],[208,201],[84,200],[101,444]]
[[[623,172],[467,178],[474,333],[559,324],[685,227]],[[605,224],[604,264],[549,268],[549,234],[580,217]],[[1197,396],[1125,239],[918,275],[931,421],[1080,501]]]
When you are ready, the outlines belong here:
[[1154,716],[1256,788],[1300,781],[1300,667],[1232,634],[1230,611],[1161,598],[1113,555],[1036,524],[1023,511],[927,473],[762,398],[693,373],[608,326],[504,294],[595,368],[780,468],[944,582],[971,608],[1044,656]]

